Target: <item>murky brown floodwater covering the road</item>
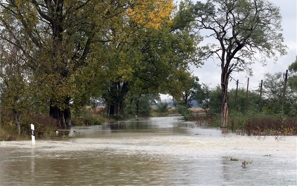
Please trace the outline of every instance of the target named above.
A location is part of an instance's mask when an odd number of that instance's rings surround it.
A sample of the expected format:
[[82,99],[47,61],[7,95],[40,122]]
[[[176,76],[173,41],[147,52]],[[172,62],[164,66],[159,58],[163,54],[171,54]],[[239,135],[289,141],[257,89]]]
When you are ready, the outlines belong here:
[[1,141],[0,185],[297,185],[296,136],[242,136],[179,119],[72,127],[35,147]]

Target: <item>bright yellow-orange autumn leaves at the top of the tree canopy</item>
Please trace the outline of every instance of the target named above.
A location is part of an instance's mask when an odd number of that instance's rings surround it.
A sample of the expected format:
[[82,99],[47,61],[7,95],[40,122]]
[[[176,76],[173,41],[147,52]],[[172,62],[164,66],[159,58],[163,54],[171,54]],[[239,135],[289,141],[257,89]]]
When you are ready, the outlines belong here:
[[128,8],[130,20],[144,28],[158,29],[162,24],[172,24],[173,0],[138,0]]

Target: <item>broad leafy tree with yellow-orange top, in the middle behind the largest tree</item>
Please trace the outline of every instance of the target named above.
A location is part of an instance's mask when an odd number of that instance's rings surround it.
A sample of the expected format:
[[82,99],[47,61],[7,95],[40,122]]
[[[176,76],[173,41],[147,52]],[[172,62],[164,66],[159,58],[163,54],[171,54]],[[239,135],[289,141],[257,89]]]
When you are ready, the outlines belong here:
[[[164,6],[171,7],[172,0],[155,2],[156,7],[160,2],[166,2]],[[134,10],[139,11],[137,6]],[[159,18],[159,14],[153,18],[143,15],[140,16],[142,21],[139,21],[136,16],[139,14],[129,9],[129,21],[123,21],[113,29],[113,37],[127,37],[105,43],[105,54],[96,55],[106,59],[106,70],[113,74],[103,94],[109,116],[124,113],[123,103],[129,90],[138,95],[168,93],[168,84],[174,83],[177,71],[187,70],[188,62],[195,57],[195,36],[185,29],[190,28],[189,25],[176,27],[175,19],[170,18],[172,7],[165,10]],[[160,22],[160,19],[163,21]]]

